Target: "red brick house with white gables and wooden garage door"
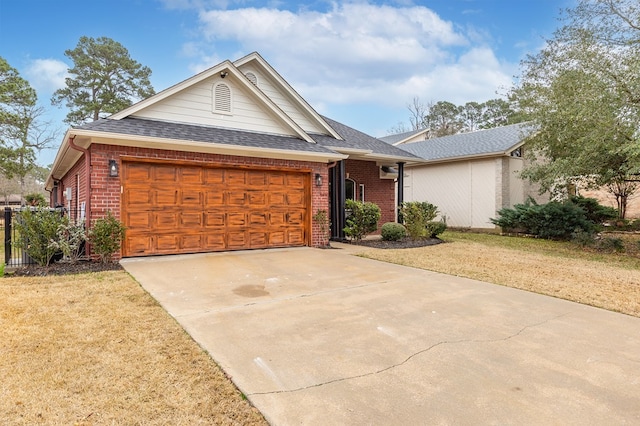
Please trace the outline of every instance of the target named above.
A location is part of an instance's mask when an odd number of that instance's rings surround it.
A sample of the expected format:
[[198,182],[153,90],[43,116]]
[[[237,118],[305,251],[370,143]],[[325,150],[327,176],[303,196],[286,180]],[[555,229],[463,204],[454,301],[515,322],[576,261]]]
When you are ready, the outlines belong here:
[[87,225],[119,218],[124,257],[318,246],[313,216],[344,238],[346,198],[394,221],[388,171],[416,160],[319,115],[252,53],[69,129],[46,188]]

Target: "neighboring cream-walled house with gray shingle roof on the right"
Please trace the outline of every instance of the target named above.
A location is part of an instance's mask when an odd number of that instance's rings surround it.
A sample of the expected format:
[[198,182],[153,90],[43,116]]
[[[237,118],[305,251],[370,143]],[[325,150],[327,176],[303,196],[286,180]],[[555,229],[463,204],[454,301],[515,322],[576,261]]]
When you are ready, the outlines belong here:
[[530,131],[513,124],[398,145],[425,160],[405,169],[404,201],[428,201],[449,226],[473,229],[495,228],[498,210],[529,196],[545,202],[518,177]]

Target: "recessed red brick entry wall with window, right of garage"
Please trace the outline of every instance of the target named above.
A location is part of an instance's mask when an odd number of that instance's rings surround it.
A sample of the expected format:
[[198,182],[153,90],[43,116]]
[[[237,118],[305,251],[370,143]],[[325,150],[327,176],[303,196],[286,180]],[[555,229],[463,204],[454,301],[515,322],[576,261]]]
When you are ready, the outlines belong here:
[[356,199],[361,200],[360,184],[364,184],[364,201],[380,207],[379,228],[386,222],[396,221],[396,195],[393,179],[380,179],[380,169],[375,162],[346,160],[345,173],[356,183]]

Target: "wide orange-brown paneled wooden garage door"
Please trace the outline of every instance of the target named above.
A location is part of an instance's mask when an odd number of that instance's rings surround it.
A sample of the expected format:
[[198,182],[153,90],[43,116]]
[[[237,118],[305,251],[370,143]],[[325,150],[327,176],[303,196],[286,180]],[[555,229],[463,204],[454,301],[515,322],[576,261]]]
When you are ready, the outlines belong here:
[[123,256],[307,244],[309,175],[125,162]]

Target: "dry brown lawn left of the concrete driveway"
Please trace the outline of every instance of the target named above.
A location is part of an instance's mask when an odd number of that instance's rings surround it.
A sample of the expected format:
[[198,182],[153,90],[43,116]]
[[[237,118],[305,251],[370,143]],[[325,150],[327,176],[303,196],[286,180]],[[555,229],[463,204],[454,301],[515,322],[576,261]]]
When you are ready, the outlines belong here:
[[0,279],[0,359],[3,424],[266,424],[122,271]]

